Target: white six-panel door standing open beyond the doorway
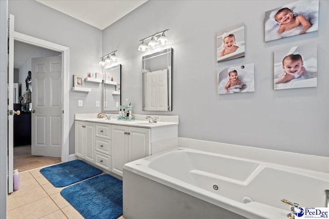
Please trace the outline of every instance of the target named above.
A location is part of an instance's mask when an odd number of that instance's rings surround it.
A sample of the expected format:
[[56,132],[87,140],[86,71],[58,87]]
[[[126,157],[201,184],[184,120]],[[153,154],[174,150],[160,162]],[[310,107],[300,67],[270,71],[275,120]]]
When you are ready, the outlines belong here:
[[61,156],[62,57],[32,58],[31,154]]

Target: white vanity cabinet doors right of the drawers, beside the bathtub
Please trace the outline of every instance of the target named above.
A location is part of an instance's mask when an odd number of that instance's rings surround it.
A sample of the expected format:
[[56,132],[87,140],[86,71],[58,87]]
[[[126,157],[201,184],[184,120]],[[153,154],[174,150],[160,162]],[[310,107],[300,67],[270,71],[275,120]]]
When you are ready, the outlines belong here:
[[151,155],[151,129],[112,125],[112,168],[122,176],[123,165]]

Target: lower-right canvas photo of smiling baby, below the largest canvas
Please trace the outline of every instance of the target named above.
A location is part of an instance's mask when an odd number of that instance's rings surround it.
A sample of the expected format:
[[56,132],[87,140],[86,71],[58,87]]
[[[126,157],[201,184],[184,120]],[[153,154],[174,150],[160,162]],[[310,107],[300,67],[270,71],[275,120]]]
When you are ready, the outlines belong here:
[[274,89],[317,86],[317,46],[289,47],[274,53]]

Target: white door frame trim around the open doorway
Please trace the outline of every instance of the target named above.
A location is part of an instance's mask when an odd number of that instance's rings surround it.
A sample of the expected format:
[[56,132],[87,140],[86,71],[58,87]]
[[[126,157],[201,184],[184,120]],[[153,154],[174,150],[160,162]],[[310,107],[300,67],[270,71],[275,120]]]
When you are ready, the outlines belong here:
[[14,31],[14,41],[62,52],[62,162],[69,161],[69,48]]

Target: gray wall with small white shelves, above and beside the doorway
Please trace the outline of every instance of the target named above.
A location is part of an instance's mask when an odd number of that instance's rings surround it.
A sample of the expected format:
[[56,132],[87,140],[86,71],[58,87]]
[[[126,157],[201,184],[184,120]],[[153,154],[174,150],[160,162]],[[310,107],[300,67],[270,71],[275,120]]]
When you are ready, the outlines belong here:
[[[51,9],[35,1],[9,1],[8,13],[15,16],[15,31],[56,44],[69,47],[70,86],[74,74],[86,76],[88,72],[101,71],[98,65],[102,56],[102,31],[75,18]],[[69,94],[69,153],[74,154],[74,115],[75,113],[95,113],[101,108],[101,85],[86,83],[92,88],[89,93],[70,91]],[[83,107],[78,107],[78,100]]]

